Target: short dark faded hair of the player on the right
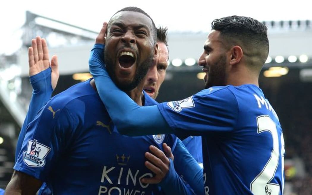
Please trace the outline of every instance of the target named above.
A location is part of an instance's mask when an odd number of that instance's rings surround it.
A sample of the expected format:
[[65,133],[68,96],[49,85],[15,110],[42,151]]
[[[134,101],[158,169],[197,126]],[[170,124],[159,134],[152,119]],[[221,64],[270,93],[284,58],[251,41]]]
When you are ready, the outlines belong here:
[[262,68],[269,54],[267,27],[263,23],[251,17],[229,16],[213,20],[211,27],[220,31],[228,46],[241,46],[244,54],[250,57],[251,66]]

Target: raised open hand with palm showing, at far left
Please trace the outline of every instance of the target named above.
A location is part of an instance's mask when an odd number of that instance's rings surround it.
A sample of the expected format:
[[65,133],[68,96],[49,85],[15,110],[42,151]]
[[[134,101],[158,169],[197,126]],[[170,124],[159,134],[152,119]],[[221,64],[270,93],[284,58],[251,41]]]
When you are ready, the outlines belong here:
[[32,46],[28,48],[28,64],[29,76],[38,74],[41,71],[51,67],[51,86],[52,89],[55,89],[60,76],[57,56],[52,56],[50,64],[49,50],[46,40],[42,39],[40,36],[37,36],[36,39],[32,39]]

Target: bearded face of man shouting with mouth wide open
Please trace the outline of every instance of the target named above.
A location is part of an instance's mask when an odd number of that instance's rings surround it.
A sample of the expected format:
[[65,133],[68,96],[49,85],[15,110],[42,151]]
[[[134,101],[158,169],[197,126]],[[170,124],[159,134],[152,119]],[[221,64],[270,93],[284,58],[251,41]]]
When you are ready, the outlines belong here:
[[123,91],[134,89],[145,77],[156,47],[153,25],[139,12],[123,11],[110,20],[105,40],[107,71]]

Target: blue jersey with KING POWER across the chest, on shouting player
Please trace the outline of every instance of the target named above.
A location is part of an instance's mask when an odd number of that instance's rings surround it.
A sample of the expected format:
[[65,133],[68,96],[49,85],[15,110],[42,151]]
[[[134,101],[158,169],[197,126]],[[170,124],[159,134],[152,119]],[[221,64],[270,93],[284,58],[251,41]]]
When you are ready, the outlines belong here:
[[[145,105],[153,102],[145,96]],[[122,116],[120,116],[122,117]],[[157,194],[144,166],[149,145],[172,150],[176,137],[118,133],[90,82],[53,97],[32,121],[14,169],[48,183],[58,194]]]

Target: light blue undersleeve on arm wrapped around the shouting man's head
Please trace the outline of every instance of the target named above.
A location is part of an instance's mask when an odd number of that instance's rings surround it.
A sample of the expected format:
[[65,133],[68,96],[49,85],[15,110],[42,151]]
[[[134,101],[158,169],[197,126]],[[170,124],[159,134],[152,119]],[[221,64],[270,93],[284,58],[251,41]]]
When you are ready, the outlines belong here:
[[[171,133],[157,106],[140,107],[111,80],[102,60],[104,45],[95,44],[89,59],[97,91],[118,131],[129,136]],[[122,117],[121,117],[122,116]]]

